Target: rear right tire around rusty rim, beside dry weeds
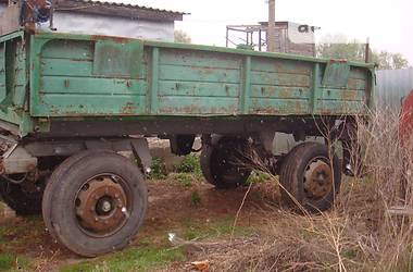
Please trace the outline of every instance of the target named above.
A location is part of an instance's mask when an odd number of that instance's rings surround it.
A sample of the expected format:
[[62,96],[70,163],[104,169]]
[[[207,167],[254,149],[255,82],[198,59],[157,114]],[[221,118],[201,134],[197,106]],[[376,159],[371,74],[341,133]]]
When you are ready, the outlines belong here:
[[305,168],[316,157],[329,158],[326,145],[318,143],[300,144],[287,154],[279,175],[280,184],[284,187],[280,188],[283,200],[292,206],[297,206],[296,201],[298,201],[306,211],[313,213],[330,209],[341,185],[341,164],[337,154],[334,154],[334,189],[316,201],[305,197],[303,186]]

